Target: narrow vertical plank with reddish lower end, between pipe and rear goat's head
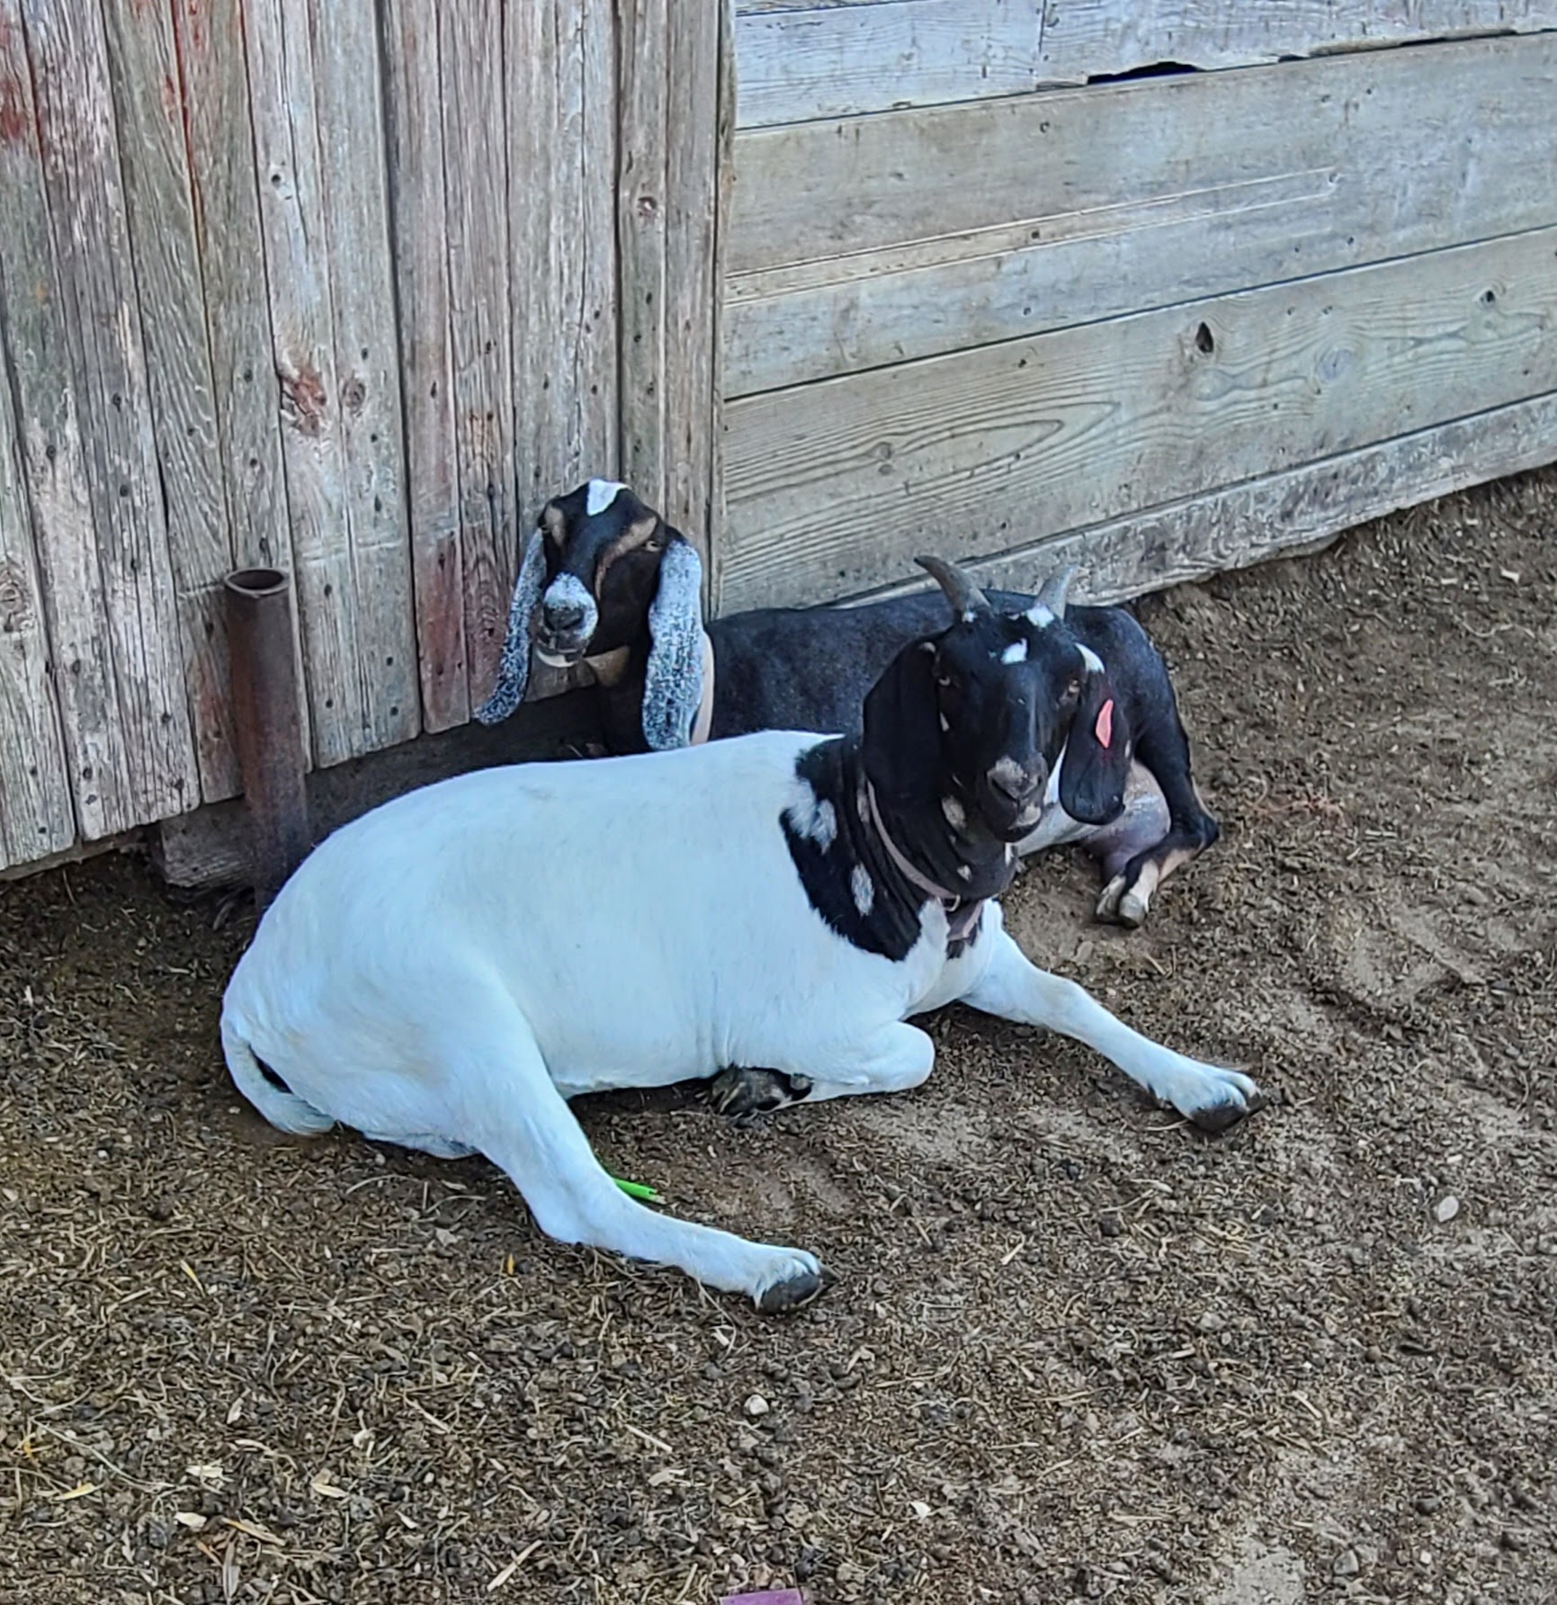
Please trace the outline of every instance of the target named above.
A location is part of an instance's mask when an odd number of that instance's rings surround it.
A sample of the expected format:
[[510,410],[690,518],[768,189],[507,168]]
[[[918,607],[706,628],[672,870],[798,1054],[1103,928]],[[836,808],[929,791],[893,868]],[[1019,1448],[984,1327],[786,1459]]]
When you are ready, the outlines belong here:
[[[470,692],[454,457],[437,0],[385,0],[384,43],[422,722],[429,730],[446,730],[470,717]],[[506,197],[501,210],[507,213]],[[506,308],[504,294],[499,313]],[[512,477],[512,462],[509,473]]]

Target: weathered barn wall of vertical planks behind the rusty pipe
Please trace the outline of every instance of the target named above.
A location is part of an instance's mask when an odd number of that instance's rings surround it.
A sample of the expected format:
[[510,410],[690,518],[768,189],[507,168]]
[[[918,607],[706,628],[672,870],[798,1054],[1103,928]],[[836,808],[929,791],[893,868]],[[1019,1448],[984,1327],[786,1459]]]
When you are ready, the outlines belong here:
[[706,544],[719,8],[0,0],[0,867],[231,796],[220,587],[313,761],[486,695],[515,536]]

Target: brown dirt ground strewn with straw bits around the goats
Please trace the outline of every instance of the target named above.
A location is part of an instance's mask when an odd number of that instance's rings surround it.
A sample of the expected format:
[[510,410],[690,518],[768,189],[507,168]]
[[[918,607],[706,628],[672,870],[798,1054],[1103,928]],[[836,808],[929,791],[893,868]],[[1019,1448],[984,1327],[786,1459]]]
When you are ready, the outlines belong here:
[[825,1258],[788,1321],[262,1125],[212,900],[0,889],[0,1599],[1557,1599],[1554,602],[1546,473],[1143,607],[1223,839],[1141,934],[1067,857],[1008,920],[1242,1128],[955,1010],[902,1098],[586,1104]]

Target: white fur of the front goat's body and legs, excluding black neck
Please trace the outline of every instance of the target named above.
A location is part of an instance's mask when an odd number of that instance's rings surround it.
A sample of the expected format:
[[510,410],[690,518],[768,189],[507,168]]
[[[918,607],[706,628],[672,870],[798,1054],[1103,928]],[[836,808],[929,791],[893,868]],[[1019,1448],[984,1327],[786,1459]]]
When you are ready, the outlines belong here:
[[[819,737],[769,732],[640,758],[525,764],[398,798],[326,839],[228,984],[222,1040],[276,1125],[332,1122],[514,1178],[539,1228],[756,1300],[814,1286],[809,1254],[626,1197],[565,1099],[754,1064],[811,1098],[915,1087],[955,998],[1092,1043],[1186,1114],[1254,1083],[1138,1037],[1032,968],[986,904],[947,958],[926,899],[894,963],[811,907],[780,815]],[[289,1090],[260,1069],[263,1059]]]

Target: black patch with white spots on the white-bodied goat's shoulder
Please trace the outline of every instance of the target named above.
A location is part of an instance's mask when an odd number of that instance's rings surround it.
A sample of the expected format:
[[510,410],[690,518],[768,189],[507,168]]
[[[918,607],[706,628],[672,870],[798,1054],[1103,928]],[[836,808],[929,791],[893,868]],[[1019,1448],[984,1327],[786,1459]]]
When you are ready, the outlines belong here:
[[[788,811],[778,815],[785,844],[811,907],[846,942],[865,953],[900,963],[920,939],[920,910],[928,899],[907,888],[902,876],[886,862],[880,839],[859,817],[856,766],[848,759],[851,743],[819,742],[801,753],[795,766],[799,780],[811,786],[817,802],[831,804],[836,830],[823,847],[801,835]],[[860,913],[854,900],[851,876],[862,867],[875,888],[870,913]],[[907,896],[905,896],[907,894]]]

